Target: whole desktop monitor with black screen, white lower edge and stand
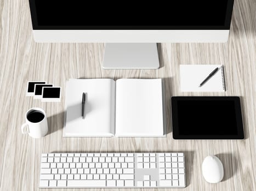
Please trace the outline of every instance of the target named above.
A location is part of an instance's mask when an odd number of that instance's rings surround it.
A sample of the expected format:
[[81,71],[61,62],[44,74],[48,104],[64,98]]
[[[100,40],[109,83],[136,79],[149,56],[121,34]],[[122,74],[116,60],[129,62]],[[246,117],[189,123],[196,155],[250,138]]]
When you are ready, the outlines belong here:
[[107,43],[103,68],[156,69],[156,43],[224,43],[234,0],[30,0],[39,43]]

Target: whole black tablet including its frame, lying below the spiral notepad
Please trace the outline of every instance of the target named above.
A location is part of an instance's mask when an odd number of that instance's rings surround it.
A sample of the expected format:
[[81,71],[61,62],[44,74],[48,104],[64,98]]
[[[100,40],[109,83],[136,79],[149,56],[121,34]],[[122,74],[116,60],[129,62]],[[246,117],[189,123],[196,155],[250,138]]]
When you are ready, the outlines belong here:
[[243,139],[239,97],[172,97],[174,139]]

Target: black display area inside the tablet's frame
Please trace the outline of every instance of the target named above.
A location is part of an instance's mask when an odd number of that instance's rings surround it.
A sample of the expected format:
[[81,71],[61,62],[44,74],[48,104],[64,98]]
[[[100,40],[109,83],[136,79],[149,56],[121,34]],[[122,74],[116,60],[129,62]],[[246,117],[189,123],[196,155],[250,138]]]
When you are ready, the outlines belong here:
[[237,135],[234,100],[179,100],[179,135]]

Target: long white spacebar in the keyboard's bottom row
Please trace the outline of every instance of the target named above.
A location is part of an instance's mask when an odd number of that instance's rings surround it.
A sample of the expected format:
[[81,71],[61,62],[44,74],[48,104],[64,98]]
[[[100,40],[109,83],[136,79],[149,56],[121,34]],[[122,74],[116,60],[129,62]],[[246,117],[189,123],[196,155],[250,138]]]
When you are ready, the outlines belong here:
[[105,187],[105,180],[67,180],[67,187]]

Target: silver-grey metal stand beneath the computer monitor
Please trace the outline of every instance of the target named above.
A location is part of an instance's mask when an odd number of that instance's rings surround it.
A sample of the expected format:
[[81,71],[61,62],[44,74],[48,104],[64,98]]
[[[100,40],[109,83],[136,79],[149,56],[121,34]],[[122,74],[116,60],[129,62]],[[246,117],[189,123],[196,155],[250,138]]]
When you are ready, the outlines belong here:
[[158,69],[156,43],[106,43],[104,69]]

